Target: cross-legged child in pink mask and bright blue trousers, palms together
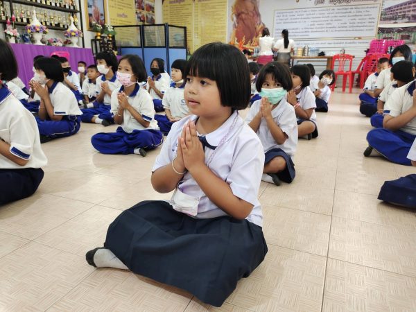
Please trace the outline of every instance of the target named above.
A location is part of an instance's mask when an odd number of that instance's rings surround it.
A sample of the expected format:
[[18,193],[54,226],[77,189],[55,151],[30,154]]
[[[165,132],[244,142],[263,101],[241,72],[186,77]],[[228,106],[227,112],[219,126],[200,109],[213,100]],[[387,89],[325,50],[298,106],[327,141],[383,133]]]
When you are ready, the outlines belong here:
[[115,133],[97,133],[91,143],[103,154],[139,154],[153,150],[163,142],[162,132],[154,119],[153,101],[137,81],[146,79],[144,63],[137,55],[123,55],[117,79],[123,85],[111,96],[114,121],[121,125]]

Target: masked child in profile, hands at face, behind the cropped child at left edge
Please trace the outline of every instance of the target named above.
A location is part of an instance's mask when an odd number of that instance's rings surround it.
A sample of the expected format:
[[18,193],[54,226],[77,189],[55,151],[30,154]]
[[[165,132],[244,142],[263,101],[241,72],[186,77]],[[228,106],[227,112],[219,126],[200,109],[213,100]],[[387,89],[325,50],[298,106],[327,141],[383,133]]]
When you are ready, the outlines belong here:
[[63,84],[60,62],[55,58],[40,58],[35,62],[35,69],[31,87],[40,96],[36,121],[41,143],[75,135],[80,130],[82,112],[73,92]]

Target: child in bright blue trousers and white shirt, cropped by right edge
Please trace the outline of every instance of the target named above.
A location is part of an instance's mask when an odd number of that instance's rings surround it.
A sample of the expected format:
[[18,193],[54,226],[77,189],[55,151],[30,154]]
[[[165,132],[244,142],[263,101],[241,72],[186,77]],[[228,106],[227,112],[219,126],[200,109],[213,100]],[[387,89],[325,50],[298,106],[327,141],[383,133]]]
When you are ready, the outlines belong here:
[[[414,72],[413,72],[414,73]],[[384,107],[383,128],[368,132],[368,157],[376,150],[390,162],[410,166],[407,155],[416,139],[416,81],[399,87],[392,93]]]

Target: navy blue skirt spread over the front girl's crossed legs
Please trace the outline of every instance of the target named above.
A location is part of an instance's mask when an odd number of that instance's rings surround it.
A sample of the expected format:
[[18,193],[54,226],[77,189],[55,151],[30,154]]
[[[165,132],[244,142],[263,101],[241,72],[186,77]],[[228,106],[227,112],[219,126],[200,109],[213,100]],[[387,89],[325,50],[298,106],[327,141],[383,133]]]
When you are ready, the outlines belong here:
[[261,227],[229,216],[196,219],[168,202],[123,211],[107,231],[110,249],[132,272],[221,306],[267,253]]

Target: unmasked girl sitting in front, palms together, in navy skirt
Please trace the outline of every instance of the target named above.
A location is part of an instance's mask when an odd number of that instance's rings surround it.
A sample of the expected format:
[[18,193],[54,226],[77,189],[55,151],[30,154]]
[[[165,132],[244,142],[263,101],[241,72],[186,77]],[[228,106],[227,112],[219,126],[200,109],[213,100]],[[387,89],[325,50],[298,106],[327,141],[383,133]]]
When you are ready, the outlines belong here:
[[214,306],[259,266],[267,252],[257,200],[264,155],[238,112],[250,100],[248,74],[234,46],[193,53],[184,90],[193,115],[173,124],[153,166],[153,187],[175,190],[172,200],[123,211],[105,247],[87,252],[89,264],[130,269]]

